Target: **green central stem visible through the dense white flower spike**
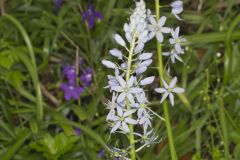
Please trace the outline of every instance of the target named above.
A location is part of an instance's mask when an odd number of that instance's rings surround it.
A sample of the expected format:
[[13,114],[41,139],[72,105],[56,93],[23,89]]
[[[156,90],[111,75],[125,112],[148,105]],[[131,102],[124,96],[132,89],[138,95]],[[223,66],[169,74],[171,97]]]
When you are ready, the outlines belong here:
[[[130,44],[130,50],[129,50],[129,55],[128,55],[126,82],[128,82],[128,80],[130,78],[133,50],[134,50],[134,47],[135,47],[135,40],[136,40],[136,35],[134,34],[132,42]],[[131,109],[129,101],[127,101],[127,109],[128,110]],[[129,124],[129,130],[130,130],[130,132],[129,132],[129,143],[130,143],[130,146],[131,146],[130,156],[131,156],[131,160],[135,160],[136,159],[136,152],[135,152],[135,141],[134,141],[134,135],[133,135],[134,128],[133,128],[132,124]]]

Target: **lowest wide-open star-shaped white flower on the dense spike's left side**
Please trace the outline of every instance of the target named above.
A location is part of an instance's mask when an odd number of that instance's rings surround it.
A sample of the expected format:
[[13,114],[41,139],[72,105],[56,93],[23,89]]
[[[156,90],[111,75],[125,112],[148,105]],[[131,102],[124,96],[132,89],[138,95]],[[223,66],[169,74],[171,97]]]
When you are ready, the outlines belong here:
[[118,128],[121,127],[121,129],[125,132],[129,132],[129,127],[127,123],[129,124],[137,124],[138,122],[132,118],[129,118],[129,115],[132,115],[136,110],[128,110],[126,112],[123,112],[121,107],[117,107],[117,116],[113,118],[114,126],[111,129],[111,133],[114,133]]

